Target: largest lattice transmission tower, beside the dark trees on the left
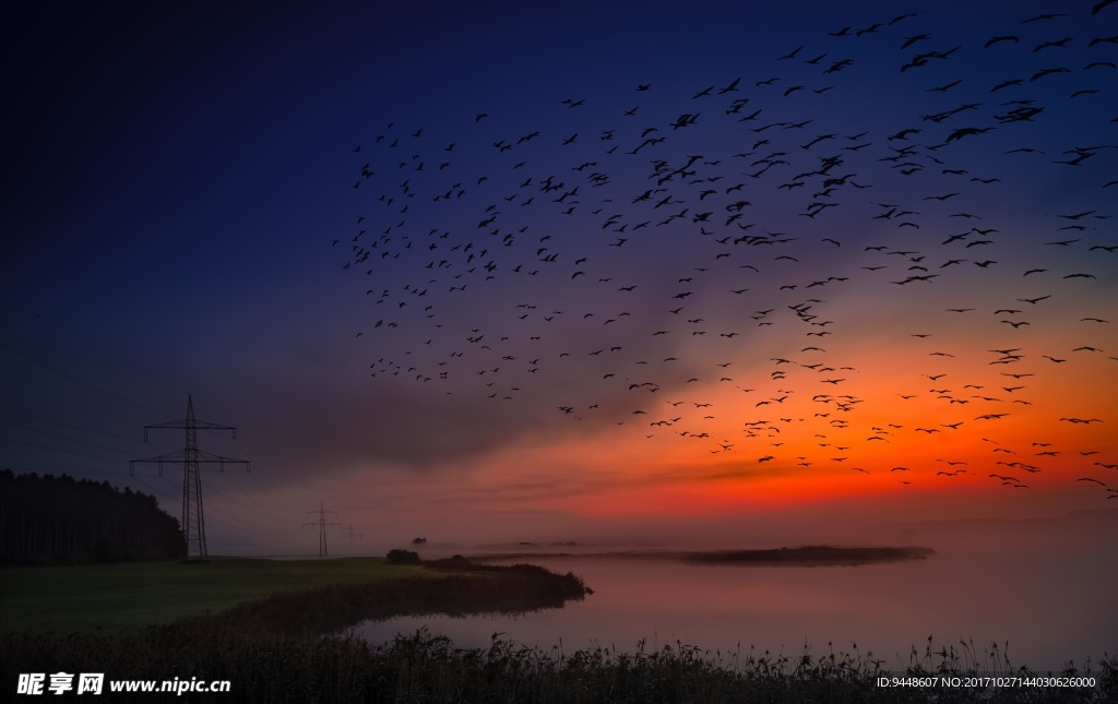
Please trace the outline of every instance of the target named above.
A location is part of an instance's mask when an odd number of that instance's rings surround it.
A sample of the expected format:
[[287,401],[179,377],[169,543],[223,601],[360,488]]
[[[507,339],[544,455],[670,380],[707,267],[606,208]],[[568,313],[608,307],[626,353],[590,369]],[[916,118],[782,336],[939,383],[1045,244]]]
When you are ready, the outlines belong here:
[[220,465],[224,472],[227,464],[246,465],[247,469],[248,460],[230,459],[229,457],[221,457],[198,449],[198,429],[231,430],[234,438],[237,437],[237,429],[233,426],[221,426],[208,420],[196,420],[195,402],[190,394],[187,394],[186,418],[144,426],[144,441],[148,440],[148,430],[150,428],[183,428],[187,431],[187,446],[169,455],[133,459],[129,463],[129,473],[135,474],[136,463],[158,464],[160,476],[163,475],[164,464],[182,465],[182,535],[187,539],[187,561],[206,562],[209,559],[209,554],[206,552],[206,521],[202,517],[202,481],[201,475],[198,474],[198,465]]

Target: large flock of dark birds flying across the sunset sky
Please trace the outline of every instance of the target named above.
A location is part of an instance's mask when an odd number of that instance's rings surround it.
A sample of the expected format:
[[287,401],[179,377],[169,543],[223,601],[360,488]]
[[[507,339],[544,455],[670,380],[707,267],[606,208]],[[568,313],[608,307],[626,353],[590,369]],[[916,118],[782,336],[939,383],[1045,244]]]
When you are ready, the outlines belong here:
[[836,27],[685,94],[387,124],[332,241],[370,377],[752,466],[1118,497],[1118,3],[1074,4],[982,39],[931,11]]

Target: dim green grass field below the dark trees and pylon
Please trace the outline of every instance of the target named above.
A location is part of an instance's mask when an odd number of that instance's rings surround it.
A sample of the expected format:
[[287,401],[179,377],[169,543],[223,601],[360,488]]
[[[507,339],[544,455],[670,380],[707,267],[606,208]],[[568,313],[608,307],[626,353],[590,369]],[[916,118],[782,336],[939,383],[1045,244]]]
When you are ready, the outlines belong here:
[[0,570],[0,630],[69,632],[169,624],[265,594],[402,577],[438,578],[381,558],[144,562]]

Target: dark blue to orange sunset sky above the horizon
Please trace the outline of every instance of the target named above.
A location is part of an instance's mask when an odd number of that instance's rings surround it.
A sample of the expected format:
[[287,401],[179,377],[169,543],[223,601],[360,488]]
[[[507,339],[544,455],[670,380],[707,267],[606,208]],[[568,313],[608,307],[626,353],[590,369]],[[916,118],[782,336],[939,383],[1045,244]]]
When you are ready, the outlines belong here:
[[189,396],[211,554],[1114,511],[1057,4],[6,6],[0,467],[179,515]]

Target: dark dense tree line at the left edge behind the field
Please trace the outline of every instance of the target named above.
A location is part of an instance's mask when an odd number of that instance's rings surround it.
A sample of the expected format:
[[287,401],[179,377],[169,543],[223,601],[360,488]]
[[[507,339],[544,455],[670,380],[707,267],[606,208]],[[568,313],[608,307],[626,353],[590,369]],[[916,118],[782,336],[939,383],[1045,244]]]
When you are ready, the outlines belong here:
[[179,521],[154,496],[108,482],[0,470],[0,563],[171,560],[186,555]]

